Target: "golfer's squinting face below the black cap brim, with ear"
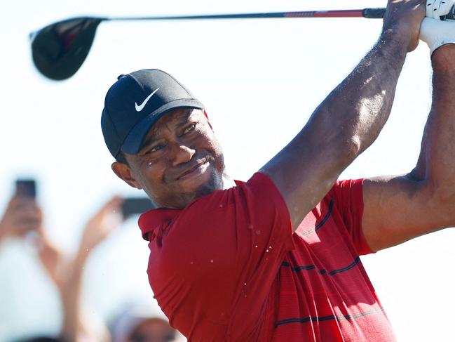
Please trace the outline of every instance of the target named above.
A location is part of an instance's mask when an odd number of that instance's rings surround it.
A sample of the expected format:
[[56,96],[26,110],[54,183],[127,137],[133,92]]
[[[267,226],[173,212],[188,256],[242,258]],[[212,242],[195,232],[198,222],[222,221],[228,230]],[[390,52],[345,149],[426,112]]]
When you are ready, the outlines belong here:
[[132,179],[121,178],[144,189],[158,206],[183,208],[223,188],[222,149],[201,110],[168,112],[151,128],[140,152],[125,157]]

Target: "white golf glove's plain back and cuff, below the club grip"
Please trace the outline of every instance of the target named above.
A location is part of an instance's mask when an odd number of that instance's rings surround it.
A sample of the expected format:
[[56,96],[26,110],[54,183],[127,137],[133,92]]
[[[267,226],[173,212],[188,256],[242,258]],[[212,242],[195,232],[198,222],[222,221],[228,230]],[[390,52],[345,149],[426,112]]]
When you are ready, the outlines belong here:
[[455,21],[423,18],[419,39],[430,48],[430,56],[440,46],[455,44]]

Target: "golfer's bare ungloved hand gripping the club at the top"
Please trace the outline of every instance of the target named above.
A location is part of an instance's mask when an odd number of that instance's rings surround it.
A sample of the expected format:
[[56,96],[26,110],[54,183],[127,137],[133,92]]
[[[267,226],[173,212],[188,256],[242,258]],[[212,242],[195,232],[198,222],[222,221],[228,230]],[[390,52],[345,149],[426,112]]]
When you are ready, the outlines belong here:
[[413,51],[419,44],[420,25],[426,13],[426,0],[389,0],[383,19],[383,33],[391,33]]

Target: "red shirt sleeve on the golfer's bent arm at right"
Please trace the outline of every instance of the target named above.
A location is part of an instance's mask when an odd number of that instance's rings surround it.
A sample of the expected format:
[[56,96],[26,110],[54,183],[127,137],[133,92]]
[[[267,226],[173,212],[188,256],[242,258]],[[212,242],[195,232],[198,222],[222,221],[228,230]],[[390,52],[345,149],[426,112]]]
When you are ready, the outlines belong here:
[[330,195],[334,199],[341,218],[343,219],[348,235],[351,237],[359,255],[374,253],[369,248],[362,231],[363,214],[363,178],[339,180],[335,183]]

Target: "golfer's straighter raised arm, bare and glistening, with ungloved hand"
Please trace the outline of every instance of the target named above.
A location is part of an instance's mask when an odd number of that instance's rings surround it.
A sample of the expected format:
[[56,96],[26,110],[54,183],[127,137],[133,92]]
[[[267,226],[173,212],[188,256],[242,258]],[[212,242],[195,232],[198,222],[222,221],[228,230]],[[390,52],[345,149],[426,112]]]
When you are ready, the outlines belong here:
[[261,169],[283,195],[294,230],[386,123],[406,53],[418,44],[425,4],[388,1],[383,30],[372,51]]

